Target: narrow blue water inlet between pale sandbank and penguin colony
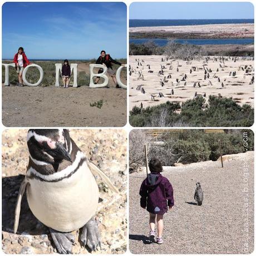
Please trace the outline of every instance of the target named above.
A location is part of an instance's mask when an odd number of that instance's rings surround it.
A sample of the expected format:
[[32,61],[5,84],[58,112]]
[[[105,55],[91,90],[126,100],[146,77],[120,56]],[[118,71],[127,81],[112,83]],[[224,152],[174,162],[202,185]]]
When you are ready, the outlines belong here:
[[[129,43],[142,45],[146,42],[154,42],[158,46],[165,46],[168,43],[166,38],[130,38]],[[176,39],[175,42],[188,45],[248,45],[254,43],[253,38],[227,38],[227,39]]]

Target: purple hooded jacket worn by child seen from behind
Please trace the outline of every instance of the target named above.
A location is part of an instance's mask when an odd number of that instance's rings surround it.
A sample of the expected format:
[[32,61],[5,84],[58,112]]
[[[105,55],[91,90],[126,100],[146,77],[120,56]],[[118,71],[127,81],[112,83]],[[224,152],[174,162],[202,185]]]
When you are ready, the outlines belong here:
[[160,173],[150,173],[140,187],[140,206],[150,213],[164,214],[174,205],[173,186]]

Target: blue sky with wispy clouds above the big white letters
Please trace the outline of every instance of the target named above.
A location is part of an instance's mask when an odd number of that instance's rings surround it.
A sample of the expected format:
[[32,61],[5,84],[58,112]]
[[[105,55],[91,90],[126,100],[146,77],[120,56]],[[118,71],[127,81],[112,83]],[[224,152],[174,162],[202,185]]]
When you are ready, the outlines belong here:
[[106,50],[126,58],[126,5],[114,2],[8,2],[2,7],[2,58],[22,46],[28,59],[90,59]]

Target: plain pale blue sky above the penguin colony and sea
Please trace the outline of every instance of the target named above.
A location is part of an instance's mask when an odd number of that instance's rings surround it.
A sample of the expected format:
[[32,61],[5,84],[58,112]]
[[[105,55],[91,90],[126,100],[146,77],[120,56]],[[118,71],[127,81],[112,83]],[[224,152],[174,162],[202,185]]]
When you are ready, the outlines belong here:
[[136,2],[130,19],[253,19],[249,2]]

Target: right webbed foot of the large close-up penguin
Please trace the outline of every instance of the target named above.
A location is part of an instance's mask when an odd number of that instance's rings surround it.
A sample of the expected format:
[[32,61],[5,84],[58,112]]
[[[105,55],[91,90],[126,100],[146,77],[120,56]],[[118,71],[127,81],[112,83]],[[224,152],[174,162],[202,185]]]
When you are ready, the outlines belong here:
[[101,249],[100,233],[97,222],[92,217],[82,228],[81,242],[83,246],[90,248],[90,250],[98,250],[98,246]]

